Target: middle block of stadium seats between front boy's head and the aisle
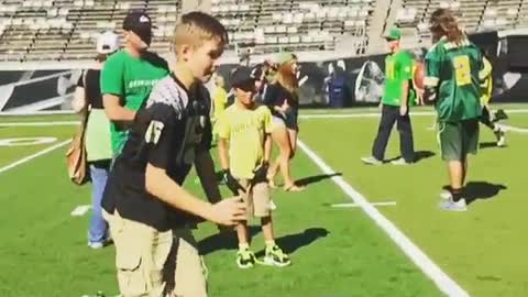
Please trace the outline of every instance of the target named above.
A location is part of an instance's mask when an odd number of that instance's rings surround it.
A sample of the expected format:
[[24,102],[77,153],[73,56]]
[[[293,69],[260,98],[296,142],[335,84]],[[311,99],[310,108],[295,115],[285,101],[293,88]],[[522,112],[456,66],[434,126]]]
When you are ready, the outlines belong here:
[[255,54],[333,50],[343,35],[366,42],[372,0],[213,0],[211,12],[227,25],[232,48]]

